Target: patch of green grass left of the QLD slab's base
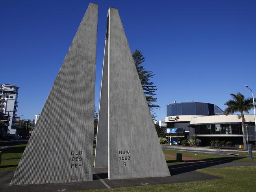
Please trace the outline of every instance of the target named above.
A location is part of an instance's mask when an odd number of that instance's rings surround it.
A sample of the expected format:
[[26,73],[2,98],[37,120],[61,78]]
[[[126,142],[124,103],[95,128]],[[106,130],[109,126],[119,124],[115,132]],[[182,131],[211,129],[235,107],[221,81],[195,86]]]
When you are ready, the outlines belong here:
[[2,161],[0,171],[15,170],[20,162],[23,151],[26,148],[26,144],[15,145],[10,148],[1,149]]

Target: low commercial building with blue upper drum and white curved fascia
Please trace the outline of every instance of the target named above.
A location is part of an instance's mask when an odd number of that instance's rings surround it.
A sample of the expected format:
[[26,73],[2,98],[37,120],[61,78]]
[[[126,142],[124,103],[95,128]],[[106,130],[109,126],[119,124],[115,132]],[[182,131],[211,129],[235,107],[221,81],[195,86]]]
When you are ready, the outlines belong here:
[[[180,135],[177,129],[183,129],[185,138],[197,135],[202,146],[208,146],[211,140],[231,141],[233,144],[243,144],[241,119],[237,115],[224,115],[217,105],[211,103],[189,102],[167,105],[165,123],[174,143]],[[245,115],[245,126],[254,126],[254,116]],[[180,138],[184,139],[184,138]]]

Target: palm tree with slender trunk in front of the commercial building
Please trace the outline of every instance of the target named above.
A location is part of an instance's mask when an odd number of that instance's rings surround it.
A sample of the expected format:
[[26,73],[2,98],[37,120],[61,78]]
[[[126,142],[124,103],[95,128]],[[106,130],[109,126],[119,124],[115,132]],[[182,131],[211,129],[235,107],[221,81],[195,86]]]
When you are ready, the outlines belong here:
[[225,103],[228,107],[225,109],[225,115],[234,114],[236,112],[240,112],[241,115],[238,115],[238,118],[242,118],[242,131],[243,131],[243,149],[247,149],[247,143],[245,141],[245,113],[249,113],[249,110],[252,109],[253,103],[252,98],[245,98],[240,92],[237,94],[230,94],[232,100],[229,100]]

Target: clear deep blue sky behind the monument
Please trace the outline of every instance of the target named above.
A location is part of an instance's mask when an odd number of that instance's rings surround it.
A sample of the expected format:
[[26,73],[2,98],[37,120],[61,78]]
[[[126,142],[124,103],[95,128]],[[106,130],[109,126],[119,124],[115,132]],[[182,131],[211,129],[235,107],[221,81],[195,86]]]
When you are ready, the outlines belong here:
[[[95,105],[98,108],[108,8],[116,7],[132,52],[155,74],[157,120],[166,105],[209,102],[225,108],[230,93],[256,94],[256,1],[107,1],[99,4]],[[86,0],[1,0],[0,83],[19,89],[18,115],[41,112]],[[250,111],[253,113],[253,111]]]

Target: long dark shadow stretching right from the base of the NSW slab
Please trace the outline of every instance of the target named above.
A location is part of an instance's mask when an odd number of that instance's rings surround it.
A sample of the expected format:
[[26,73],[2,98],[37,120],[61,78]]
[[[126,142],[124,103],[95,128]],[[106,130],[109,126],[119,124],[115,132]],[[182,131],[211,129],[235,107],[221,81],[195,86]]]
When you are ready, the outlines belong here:
[[[189,161],[183,161],[187,163],[169,165],[168,168],[170,170],[171,175],[177,175],[177,174],[195,171],[197,169],[203,169],[203,168],[208,168],[210,166],[232,162],[237,159],[244,159],[244,157],[218,157],[218,158],[189,160]],[[172,163],[176,161],[170,160],[166,162]]]

